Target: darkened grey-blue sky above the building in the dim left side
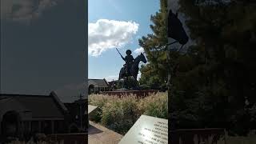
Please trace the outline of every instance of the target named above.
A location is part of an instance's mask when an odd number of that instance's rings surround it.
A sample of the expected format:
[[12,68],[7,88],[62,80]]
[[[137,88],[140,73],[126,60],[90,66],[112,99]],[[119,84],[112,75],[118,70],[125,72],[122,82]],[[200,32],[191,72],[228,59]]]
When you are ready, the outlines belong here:
[[85,1],[1,0],[0,93],[78,99],[86,86]]

